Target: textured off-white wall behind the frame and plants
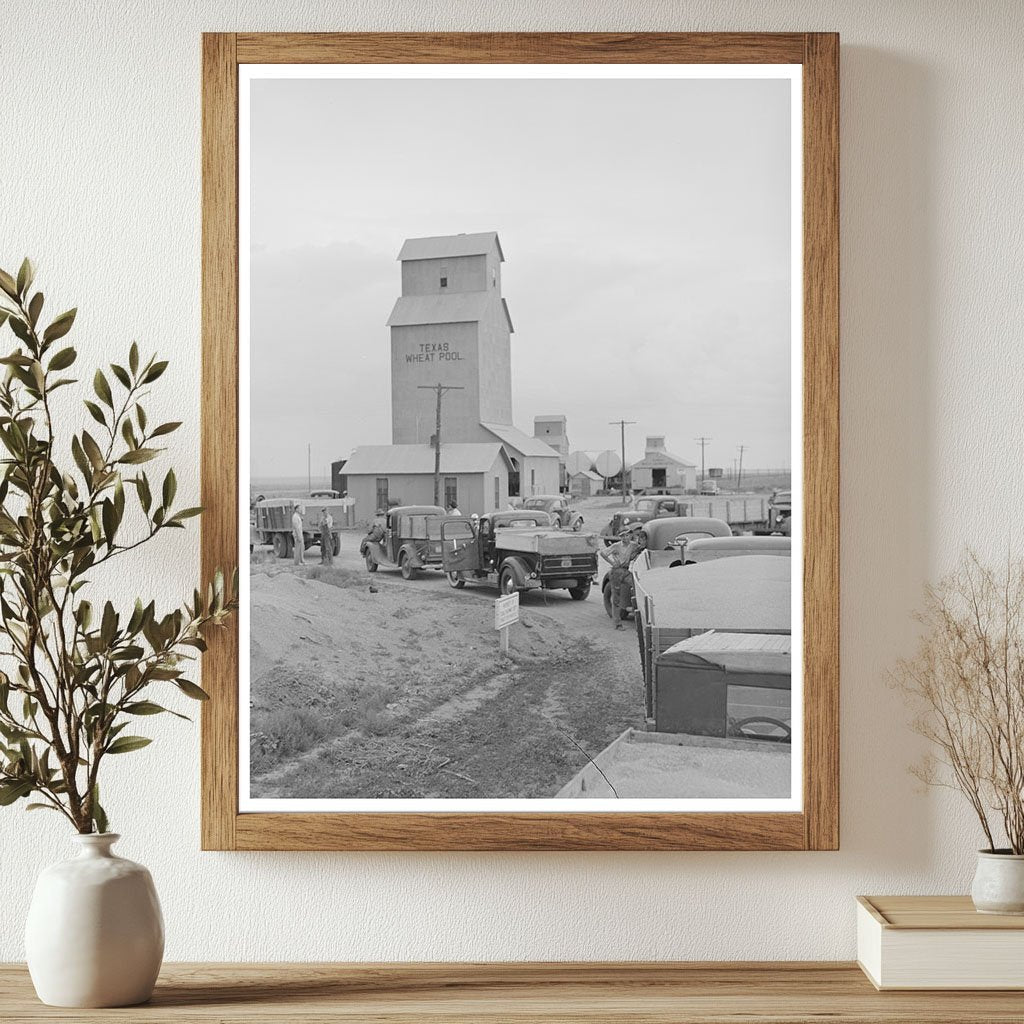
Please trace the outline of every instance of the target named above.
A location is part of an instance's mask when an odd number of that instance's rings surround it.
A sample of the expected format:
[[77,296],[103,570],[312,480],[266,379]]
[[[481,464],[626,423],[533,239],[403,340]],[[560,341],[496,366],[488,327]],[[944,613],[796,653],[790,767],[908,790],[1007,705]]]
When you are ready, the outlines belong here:
[[[201,853],[197,733],[161,721],[106,802],[156,877],[170,958],[849,957],[855,894],[966,891],[976,829],[904,771],[916,743],[886,671],[927,578],[966,544],[1020,550],[1021,24],[1014,0],[8,0],[0,265],[33,254],[55,304],[81,306],[86,360],[132,338],[173,356],[151,414],[188,422],[186,496],[202,30],[843,34],[842,851]],[[139,586],[185,595],[196,545],[156,546]],[[55,818],[0,810],[0,959],[22,956],[31,880],[70,846]]]

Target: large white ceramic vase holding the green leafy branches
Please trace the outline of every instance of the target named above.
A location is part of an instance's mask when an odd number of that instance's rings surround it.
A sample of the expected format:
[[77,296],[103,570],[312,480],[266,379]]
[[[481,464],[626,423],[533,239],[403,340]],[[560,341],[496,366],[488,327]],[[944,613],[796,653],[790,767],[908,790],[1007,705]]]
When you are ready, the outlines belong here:
[[79,855],[36,883],[25,948],[36,994],[51,1007],[130,1007],[153,994],[164,918],[150,872],[111,852],[120,838],[76,836]]

